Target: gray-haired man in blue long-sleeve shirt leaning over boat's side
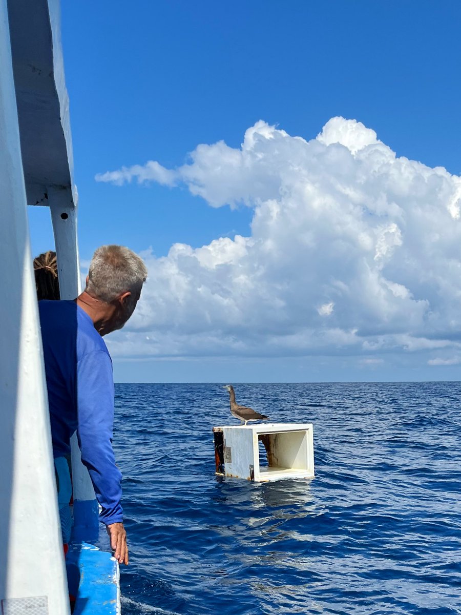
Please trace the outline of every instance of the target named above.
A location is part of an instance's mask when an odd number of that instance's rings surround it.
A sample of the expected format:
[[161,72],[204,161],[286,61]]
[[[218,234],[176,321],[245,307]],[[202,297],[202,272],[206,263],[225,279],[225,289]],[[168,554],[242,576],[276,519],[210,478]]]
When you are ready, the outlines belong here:
[[[114,556],[128,563],[120,470],[112,450],[114,377],[103,337],[121,329],[141,295],[147,277],[143,260],[128,248],[104,245],[90,264],[86,288],[74,301],[39,301],[53,456],[61,489],[70,485],[66,459],[77,431],[82,462],[101,505]],[[67,496],[65,496],[67,497]],[[59,493],[58,493],[59,499]],[[62,498],[61,498],[62,499]],[[64,542],[70,510],[61,507]]]

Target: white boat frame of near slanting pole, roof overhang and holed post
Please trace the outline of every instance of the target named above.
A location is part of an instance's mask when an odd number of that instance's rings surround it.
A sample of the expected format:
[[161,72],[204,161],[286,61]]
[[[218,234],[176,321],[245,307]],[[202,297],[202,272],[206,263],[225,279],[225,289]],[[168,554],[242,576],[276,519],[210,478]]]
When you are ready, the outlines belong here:
[[[0,276],[4,292],[0,307],[0,544],[4,550],[0,612],[4,615],[69,613],[26,207],[50,208],[61,298],[74,299],[81,283],[72,167],[59,0],[0,0]],[[97,502],[76,438],[72,469],[79,539],[92,539],[98,533]],[[119,600],[114,602],[119,608]]]

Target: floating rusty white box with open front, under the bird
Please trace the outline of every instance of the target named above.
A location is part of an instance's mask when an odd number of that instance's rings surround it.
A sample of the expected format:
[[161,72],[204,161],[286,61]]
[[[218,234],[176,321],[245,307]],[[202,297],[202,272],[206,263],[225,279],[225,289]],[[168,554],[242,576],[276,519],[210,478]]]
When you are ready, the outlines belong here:
[[[312,423],[260,423],[213,427],[216,474],[267,482],[279,478],[312,478]],[[259,463],[259,442],[267,466]]]

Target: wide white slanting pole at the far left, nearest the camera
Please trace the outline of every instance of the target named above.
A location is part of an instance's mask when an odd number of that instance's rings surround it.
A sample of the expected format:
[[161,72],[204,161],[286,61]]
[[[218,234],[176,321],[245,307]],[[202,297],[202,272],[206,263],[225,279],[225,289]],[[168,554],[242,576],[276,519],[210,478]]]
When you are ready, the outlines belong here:
[[0,0],[0,601],[69,613],[6,0]]

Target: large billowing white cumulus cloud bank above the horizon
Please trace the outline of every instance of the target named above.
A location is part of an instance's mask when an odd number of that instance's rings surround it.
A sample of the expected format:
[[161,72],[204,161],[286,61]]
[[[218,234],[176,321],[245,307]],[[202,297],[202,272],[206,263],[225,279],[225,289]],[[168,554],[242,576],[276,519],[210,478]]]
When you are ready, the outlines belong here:
[[249,237],[146,252],[149,280],[115,354],[459,346],[461,178],[396,157],[360,122],[334,117],[305,140],[259,121],[240,148],[219,141],[177,169],[151,161],[97,176],[133,179],[252,207],[253,221]]

